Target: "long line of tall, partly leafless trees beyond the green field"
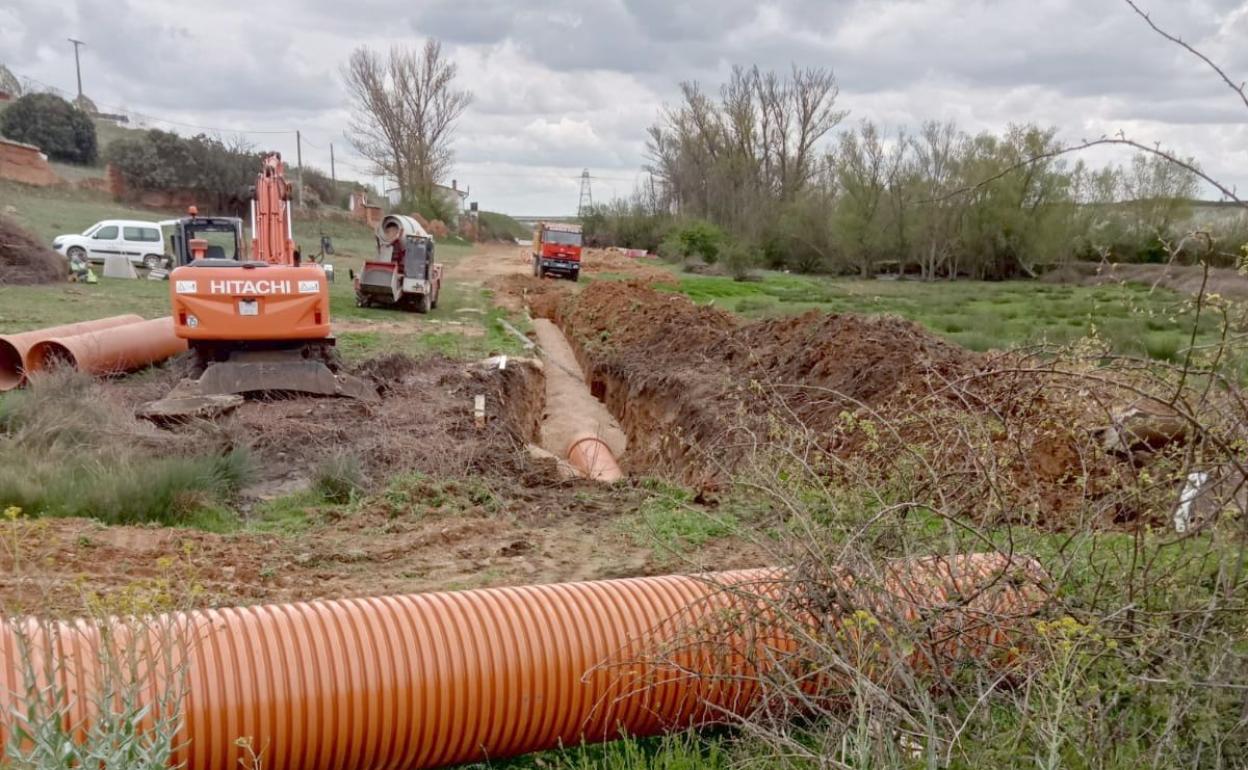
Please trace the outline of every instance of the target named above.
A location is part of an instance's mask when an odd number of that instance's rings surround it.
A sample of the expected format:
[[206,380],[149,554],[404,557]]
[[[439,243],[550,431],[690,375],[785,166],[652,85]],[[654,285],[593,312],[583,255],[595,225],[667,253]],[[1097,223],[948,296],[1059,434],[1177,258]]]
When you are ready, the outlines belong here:
[[[1197,175],[1158,155],[1072,162],[1056,129],[1036,125],[845,126],[837,94],[817,67],[738,67],[716,95],[683,84],[649,131],[653,182],[592,211],[589,238],[723,256],[734,272],[1006,278],[1078,258],[1168,258],[1192,216]],[[1248,232],[1218,235],[1212,258],[1233,265]]]

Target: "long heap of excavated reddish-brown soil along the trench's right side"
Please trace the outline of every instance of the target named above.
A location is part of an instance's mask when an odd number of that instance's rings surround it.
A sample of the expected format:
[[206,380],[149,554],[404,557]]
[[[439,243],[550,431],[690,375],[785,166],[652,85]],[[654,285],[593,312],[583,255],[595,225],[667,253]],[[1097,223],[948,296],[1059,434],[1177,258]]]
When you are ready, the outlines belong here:
[[804,457],[852,483],[905,475],[956,515],[1066,527],[1129,472],[1094,431],[1121,399],[900,318],[740,324],[636,282],[590,285],[554,317],[624,427],[634,473],[714,488]]

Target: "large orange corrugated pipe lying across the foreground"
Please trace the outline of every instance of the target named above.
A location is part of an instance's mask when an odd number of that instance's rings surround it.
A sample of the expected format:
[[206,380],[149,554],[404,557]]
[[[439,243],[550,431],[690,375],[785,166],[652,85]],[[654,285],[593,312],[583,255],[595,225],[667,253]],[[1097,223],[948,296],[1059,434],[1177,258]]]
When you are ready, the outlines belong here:
[[[901,621],[931,623],[929,661],[998,660],[1045,597],[1031,559],[897,564],[859,607],[887,603]],[[84,621],[12,621],[0,629],[0,715],[22,713],[21,693],[54,693],[81,740],[92,686],[112,670],[104,648],[139,660],[145,703],[180,706],[173,764],[187,770],[233,770],[240,739],[271,770],[372,770],[654,735],[750,714],[763,678],[799,668],[795,638],[820,625],[775,623],[790,583],[781,570],[746,570],[342,599],[117,621],[105,634]],[[844,583],[852,600],[857,589]],[[811,602],[794,605],[810,616]],[[832,630],[851,628],[831,616]],[[22,644],[31,680],[19,670]],[[0,720],[0,748],[5,729]]]

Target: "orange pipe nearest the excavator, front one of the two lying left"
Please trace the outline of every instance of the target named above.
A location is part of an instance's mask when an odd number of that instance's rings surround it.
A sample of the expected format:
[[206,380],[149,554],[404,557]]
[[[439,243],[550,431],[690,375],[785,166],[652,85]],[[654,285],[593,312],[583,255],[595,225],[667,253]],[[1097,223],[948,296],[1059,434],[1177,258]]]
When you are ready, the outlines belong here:
[[173,333],[168,316],[44,339],[26,354],[26,371],[67,364],[87,374],[120,374],[160,363],[186,349],[186,339]]

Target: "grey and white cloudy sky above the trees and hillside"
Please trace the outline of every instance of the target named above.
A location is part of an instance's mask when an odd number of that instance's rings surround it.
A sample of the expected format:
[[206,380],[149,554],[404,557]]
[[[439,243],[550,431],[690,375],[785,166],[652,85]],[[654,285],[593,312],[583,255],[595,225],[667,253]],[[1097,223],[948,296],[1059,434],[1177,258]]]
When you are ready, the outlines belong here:
[[[1248,79],[1248,0],[1141,0],[1154,20]],[[1248,188],[1248,110],[1122,0],[6,0],[0,62],[101,109],[377,182],[343,135],[338,75],[359,45],[441,39],[475,101],[456,177],[483,208],[555,215],[643,178],[645,129],[676,84],[734,64],[830,66],[847,121],[967,130],[1037,121],[1068,140],[1126,131]]]

